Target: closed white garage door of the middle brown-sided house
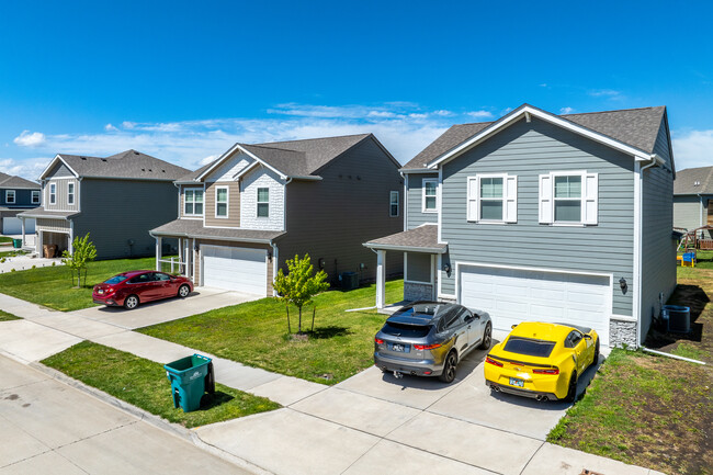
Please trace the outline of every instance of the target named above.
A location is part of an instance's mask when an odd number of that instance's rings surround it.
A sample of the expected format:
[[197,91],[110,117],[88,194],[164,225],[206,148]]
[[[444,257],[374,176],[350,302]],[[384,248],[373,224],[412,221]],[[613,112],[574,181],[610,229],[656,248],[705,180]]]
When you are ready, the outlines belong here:
[[264,249],[201,246],[203,285],[265,296],[268,251]]

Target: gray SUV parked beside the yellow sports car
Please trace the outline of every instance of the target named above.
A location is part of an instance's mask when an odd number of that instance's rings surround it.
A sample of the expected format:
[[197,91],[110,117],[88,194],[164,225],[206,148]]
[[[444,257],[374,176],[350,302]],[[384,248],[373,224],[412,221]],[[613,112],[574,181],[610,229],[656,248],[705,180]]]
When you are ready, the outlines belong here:
[[485,312],[444,302],[416,302],[388,317],[374,338],[374,364],[396,377],[455,378],[455,366],[474,348],[487,350],[493,324]]

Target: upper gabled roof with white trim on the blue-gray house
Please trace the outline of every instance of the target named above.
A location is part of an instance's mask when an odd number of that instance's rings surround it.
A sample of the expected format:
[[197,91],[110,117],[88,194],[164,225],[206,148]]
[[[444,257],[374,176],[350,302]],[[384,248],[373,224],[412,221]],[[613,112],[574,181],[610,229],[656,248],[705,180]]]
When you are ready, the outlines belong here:
[[620,149],[637,159],[648,159],[654,154],[656,138],[666,108],[645,108],[587,114],[555,115],[529,104],[523,104],[495,122],[454,125],[406,163],[404,170],[437,168],[461,152],[518,122],[535,116],[567,128],[592,140]]

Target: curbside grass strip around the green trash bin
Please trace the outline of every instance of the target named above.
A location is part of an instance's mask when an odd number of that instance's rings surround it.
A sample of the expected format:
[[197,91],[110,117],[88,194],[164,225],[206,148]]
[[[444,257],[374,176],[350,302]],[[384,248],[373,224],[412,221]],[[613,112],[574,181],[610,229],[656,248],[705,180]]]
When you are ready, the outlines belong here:
[[173,407],[171,385],[162,364],[90,341],[75,344],[42,363],[170,422],[189,428],[281,407],[264,397],[216,384],[215,394],[213,397],[204,396],[199,410],[183,412]]

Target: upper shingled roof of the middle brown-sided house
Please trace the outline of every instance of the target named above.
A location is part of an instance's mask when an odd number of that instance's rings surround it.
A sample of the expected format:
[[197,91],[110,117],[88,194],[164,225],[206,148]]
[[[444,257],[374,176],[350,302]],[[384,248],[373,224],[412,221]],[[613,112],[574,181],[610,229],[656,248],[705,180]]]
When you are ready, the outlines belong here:
[[181,177],[178,182],[184,183],[203,179],[227,158],[233,156],[236,150],[244,150],[254,156],[259,161],[285,177],[316,178],[319,170],[327,163],[369,137],[376,142],[394,163],[399,167],[396,159],[373,134],[358,134],[339,137],[308,138],[304,140],[271,142],[265,144],[236,144],[213,162]]

